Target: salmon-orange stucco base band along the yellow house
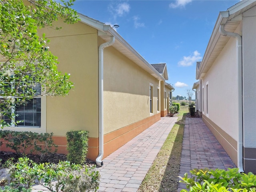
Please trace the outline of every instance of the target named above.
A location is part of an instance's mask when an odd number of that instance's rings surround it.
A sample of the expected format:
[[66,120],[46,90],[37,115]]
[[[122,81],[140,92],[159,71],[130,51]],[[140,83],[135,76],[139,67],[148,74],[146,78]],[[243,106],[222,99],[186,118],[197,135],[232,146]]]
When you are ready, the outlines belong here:
[[[166,111],[167,114],[167,111]],[[130,124],[116,131],[104,135],[104,156],[110,155],[118,148],[126,144],[132,138],[149,128],[152,124],[161,119],[161,114],[158,113],[154,116],[150,116],[136,123]],[[54,144],[58,145],[57,153],[67,154],[67,140],[65,136],[53,136]],[[95,161],[98,157],[99,141],[98,138],[89,138],[88,141],[88,153],[87,158]],[[10,148],[6,148],[5,143],[1,146],[2,151],[10,151]]]

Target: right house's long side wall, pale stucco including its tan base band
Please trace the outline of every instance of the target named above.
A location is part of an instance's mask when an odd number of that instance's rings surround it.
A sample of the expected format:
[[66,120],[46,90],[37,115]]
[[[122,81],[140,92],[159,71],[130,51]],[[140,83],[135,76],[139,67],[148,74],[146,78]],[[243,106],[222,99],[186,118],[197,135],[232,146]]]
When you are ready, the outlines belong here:
[[235,54],[236,42],[230,38],[202,79],[202,119],[234,162],[238,141]]

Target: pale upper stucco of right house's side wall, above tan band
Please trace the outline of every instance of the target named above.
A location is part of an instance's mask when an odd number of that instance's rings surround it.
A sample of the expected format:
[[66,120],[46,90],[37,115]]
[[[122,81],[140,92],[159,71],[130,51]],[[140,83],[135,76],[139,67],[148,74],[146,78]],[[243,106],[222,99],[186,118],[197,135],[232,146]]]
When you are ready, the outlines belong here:
[[[208,84],[208,114],[206,85]],[[230,38],[202,80],[202,114],[238,140],[236,40]],[[228,114],[228,115],[225,115]]]

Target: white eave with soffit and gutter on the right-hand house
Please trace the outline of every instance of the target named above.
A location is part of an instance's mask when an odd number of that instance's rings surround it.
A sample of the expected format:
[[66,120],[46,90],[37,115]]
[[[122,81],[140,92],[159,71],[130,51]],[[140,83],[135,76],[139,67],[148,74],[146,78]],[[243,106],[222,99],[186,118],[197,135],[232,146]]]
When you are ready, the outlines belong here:
[[225,25],[224,29],[226,31],[234,32],[242,20],[242,13],[255,5],[255,0],[243,0],[230,7],[227,11],[219,13],[201,65],[196,73],[197,80],[204,78],[205,74],[208,72],[230,38],[228,36],[220,35],[220,25]]

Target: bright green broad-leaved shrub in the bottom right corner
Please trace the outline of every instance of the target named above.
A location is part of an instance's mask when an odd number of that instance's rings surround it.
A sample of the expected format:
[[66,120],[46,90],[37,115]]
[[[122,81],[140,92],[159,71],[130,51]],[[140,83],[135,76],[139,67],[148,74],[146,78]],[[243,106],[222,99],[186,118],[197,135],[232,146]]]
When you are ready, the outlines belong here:
[[[187,173],[184,174],[184,177],[178,177],[182,179],[180,182],[185,183],[192,192],[255,192],[256,176],[251,172],[239,173],[238,168],[228,168],[228,170],[194,169],[190,173],[192,178],[188,178]],[[181,192],[187,192],[187,190],[181,190]]]

